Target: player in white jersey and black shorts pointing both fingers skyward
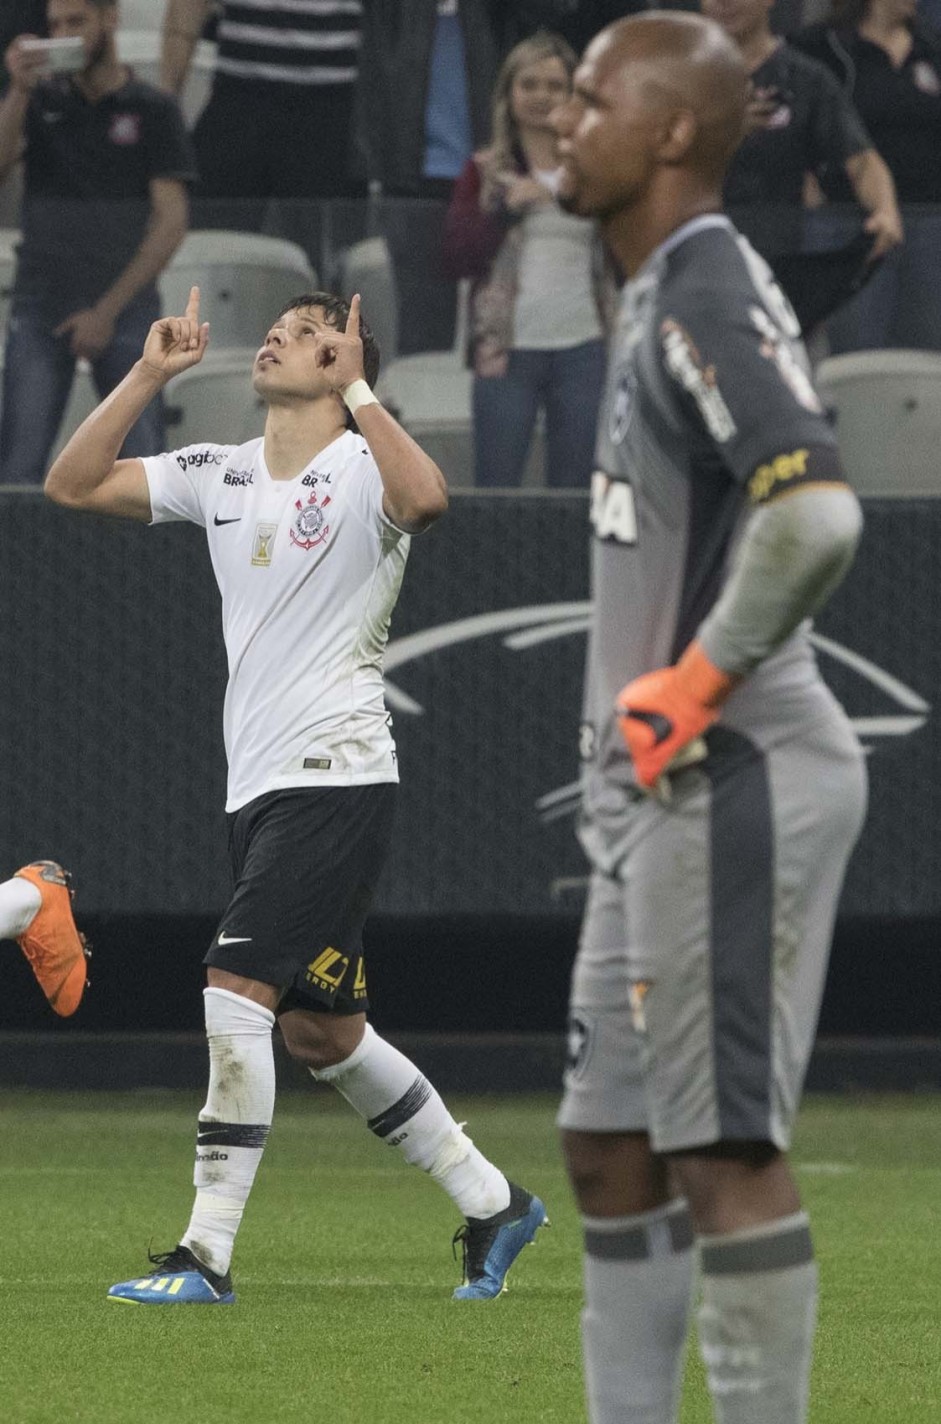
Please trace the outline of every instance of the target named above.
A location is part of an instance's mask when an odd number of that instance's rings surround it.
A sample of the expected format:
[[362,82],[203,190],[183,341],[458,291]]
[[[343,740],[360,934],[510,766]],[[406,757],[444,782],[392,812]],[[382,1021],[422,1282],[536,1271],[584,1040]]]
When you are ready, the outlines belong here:
[[144,406],[206,349],[192,289],[53,464],[60,504],[206,530],[229,662],[225,745],[235,891],[209,953],[209,1092],[179,1245],[112,1300],[235,1300],[229,1263],[275,1102],[272,1028],[466,1216],[456,1299],[487,1300],[545,1220],[366,1021],[362,930],[399,779],[382,659],[411,534],[447,507],[441,471],[376,400],[379,350],[349,306],[292,302],[258,352],[265,436],[118,460]]

